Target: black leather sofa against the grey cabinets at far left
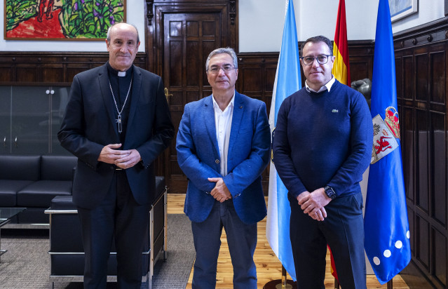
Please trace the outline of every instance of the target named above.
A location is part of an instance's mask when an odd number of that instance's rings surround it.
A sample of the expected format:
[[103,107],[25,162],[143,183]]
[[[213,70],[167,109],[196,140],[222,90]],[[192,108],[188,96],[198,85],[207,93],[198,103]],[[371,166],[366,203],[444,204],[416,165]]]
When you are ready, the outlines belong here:
[[0,207],[27,208],[8,227],[48,227],[55,196],[71,196],[75,156],[0,155]]

